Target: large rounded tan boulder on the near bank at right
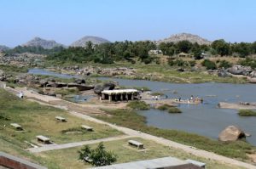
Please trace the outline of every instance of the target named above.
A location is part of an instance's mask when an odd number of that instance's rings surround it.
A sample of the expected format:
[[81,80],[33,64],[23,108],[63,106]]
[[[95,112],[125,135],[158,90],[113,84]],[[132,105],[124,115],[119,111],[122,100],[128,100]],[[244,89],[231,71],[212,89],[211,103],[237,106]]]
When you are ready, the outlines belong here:
[[240,138],[246,138],[245,132],[241,131],[239,127],[229,126],[219,133],[218,139],[220,141],[236,141]]

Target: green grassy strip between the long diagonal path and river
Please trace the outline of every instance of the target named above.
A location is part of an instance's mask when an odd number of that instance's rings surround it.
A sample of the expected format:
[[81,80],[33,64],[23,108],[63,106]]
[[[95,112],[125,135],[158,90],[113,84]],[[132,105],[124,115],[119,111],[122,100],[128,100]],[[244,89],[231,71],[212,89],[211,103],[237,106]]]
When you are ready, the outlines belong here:
[[177,143],[194,146],[198,149],[212,151],[218,155],[247,161],[247,154],[252,154],[256,151],[253,145],[244,141],[223,143],[193,133],[148,127],[146,125],[146,118],[142,115],[138,115],[137,112],[133,110],[107,110],[107,112],[110,116],[96,116],[96,118],[115,123],[119,126],[146,132],[154,136],[170,139]]

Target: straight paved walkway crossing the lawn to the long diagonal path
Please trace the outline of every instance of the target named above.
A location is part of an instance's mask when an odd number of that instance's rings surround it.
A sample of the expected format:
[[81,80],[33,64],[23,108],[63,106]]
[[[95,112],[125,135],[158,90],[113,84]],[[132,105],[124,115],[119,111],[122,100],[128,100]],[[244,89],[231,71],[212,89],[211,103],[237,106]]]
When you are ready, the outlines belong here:
[[112,138],[102,138],[102,139],[88,140],[83,142],[74,142],[69,144],[48,144],[48,145],[44,145],[43,147],[31,148],[28,150],[32,153],[40,153],[40,152],[49,151],[49,150],[68,149],[68,148],[78,147],[78,146],[87,145],[87,144],[98,144],[101,142],[109,142],[109,141],[115,141],[115,140],[120,140],[125,138],[131,138],[131,136],[123,135],[123,136],[117,136]]

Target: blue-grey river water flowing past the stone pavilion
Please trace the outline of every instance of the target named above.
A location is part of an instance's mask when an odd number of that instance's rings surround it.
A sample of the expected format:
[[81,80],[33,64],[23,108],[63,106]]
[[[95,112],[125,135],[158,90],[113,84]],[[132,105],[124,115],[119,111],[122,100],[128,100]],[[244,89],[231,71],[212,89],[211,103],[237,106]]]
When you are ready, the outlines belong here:
[[[29,73],[35,72],[35,69]],[[36,70],[37,74],[46,75],[45,70]],[[52,73],[52,72],[50,72]],[[64,77],[54,73],[55,76]],[[52,74],[51,74],[52,76]],[[67,75],[66,75],[67,76]],[[65,78],[65,77],[64,77]],[[67,78],[70,78],[68,76]],[[176,84],[168,82],[149,82],[144,80],[125,80],[99,77],[103,81],[119,82],[120,86],[148,87],[152,92],[165,93],[168,98],[189,99],[191,95],[204,99],[203,104],[180,104],[181,114],[169,114],[160,110],[143,110],[139,113],[147,117],[148,125],[166,129],[193,132],[209,138],[218,138],[224,127],[236,125],[251,133],[247,141],[256,145],[256,117],[241,117],[237,110],[218,109],[219,102],[256,102],[256,85],[230,83]],[[174,92],[175,91],[175,92]]]

